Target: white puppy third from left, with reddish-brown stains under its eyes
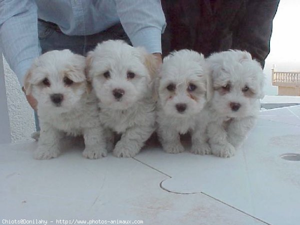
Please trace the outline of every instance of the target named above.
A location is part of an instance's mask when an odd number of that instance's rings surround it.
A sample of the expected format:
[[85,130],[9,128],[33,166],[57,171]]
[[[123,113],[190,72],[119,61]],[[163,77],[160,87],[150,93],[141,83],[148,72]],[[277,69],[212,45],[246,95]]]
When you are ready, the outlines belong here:
[[168,153],[184,151],[180,134],[191,135],[191,152],[211,153],[201,110],[207,97],[208,69],[202,54],[179,50],[163,59],[158,81],[157,134]]

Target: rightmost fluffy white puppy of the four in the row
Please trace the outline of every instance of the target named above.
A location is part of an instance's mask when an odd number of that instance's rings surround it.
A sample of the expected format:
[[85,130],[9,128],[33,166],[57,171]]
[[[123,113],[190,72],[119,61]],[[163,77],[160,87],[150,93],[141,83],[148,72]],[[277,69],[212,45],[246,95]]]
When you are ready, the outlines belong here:
[[250,53],[228,50],[207,58],[213,96],[209,101],[207,133],[212,153],[230,157],[255,124],[264,96],[264,74]]

